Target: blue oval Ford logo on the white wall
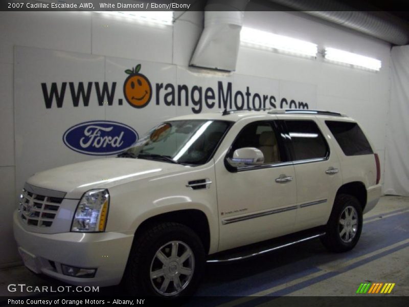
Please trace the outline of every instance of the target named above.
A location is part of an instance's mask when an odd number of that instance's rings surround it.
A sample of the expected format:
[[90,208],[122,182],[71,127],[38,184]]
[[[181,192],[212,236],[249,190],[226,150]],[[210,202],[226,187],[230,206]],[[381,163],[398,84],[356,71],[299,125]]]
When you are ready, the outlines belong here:
[[85,155],[115,155],[138,140],[138,133],[128,125],[97,120],[72,126],[62,136],[65,146]]

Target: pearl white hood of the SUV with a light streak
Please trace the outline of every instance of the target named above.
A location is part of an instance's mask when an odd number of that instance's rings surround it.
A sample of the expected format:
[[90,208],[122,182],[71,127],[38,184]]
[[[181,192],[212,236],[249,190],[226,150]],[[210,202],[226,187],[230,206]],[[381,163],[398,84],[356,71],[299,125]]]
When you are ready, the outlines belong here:
[[109,188],[185,168],[183,165],[161,161],[105,158],[41,171],[27,182],[37,187],[66,192],[66,198],[80,199],[90,189]]

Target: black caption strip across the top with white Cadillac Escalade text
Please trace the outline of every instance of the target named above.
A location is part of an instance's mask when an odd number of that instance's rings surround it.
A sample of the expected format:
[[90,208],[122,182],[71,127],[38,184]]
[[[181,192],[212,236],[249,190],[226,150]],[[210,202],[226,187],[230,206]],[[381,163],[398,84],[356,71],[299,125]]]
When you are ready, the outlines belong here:
[[[203,11],[206,0],[2,0],[0,11]],[[299,11],[297,2],[249,0],[246,11]],[[230,11],[234,1],[212,0],[212,11]],[[233,4],[233,5],[232,5]],[[409,2],[399,0],[300,0],[310,11],[409,12]]]

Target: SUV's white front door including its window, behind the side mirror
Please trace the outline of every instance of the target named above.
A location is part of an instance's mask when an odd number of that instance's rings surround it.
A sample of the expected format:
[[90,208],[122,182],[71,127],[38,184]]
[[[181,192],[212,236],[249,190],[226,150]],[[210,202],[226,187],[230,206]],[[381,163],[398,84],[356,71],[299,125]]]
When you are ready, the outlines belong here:
[[219,250],[260,242],[292,232],[297,194],[294,167],[274,121],[244,124],[226,157],[234,150],[256,147],[264,164],[228,169],[216,162]]

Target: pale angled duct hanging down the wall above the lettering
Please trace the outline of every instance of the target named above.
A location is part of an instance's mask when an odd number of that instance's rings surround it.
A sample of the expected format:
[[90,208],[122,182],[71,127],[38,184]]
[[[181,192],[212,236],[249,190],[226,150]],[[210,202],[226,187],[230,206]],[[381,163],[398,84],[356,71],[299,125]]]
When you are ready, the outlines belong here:
[[205,7],[205,27],[190,65],[222,71],[236,70],[240,30],[248,0],[209,0]]

